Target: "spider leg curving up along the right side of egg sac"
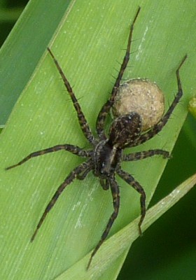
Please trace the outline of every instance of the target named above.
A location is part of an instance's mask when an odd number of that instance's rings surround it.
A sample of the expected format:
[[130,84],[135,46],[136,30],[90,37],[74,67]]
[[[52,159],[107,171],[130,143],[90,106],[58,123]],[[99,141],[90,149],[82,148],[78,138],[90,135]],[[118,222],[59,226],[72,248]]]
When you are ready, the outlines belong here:
[[174,98],[172,105],[169,107],[167,113],[165,114],[165,116],[162,117],[160,122],[157,125],[154,125],[151,128],[151,130],[149,130],[145,134],[142,134],[141,137],[139,137],[139,139],[136,141],[136,143],[132,146],[138,146],[138,145],[148,141],[149,139],[154,137],[155,134],[158,134],[158,132],[160,132],[163,127],[165,127],[167,121],[169,120],[170,116],[172,115],[172,112],[174,111],[176,105],[179,103],[179,101],[183,95],[183,90],[182,90],[182,86],[181,86],[181,78],[180,78],[180,69],[181,69],[181,66],[183,65],[183,63],[185,62],[186,58],[187,58],[187,55],[185,55],[185,57],[183,57],[178,69],[176,70],[176,78],[177,78],[177,84],[178,84],[179,91],[176,94],[176,97]]

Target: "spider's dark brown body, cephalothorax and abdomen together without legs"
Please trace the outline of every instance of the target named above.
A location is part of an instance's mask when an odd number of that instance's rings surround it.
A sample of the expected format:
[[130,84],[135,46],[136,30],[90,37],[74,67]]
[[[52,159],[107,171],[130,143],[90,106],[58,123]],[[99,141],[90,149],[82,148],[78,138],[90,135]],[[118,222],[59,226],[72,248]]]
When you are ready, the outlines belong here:
[[94,148],[94,175],[109,179],[120,167],[123,148],[136,141],[141,132],[141,118],[137,113],[120,116],[111,124],[109,139],[100,141]]

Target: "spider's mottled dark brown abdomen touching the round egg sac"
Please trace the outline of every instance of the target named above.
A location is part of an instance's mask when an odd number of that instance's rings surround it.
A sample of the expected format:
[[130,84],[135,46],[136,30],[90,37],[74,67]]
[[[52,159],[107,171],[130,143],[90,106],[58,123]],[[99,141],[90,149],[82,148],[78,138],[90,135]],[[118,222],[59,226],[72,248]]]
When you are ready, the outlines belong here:
[[141,117],[138,113],[120,116],[113,121],[109,132],[109,144],[123,148],[127,144],[132,144],[141,133]]

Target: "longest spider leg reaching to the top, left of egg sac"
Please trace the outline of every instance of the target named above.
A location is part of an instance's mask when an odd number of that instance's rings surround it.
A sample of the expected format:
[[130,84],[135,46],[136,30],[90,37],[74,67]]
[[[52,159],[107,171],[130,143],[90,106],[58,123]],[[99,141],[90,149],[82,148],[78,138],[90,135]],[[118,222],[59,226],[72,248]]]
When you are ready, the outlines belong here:
[[106,135],[104,133],[104,123],[105,123],[105,120],[106,120],[106,116],[108,115],[109,110],[111,109],[111,106],[113,106],[113,102],[114,102],[116,94],[118,92],[118,87],[120,86],[120,80],[123,78],[123,73],[125,72],[127,64],[130,60],[130,48],[131,48],[131,43],[132,43],[132,33],[133,33],[133,29],[134,29],[134,24],[137,20],[137,16],[139,15],[139,11],[140,11],[140,7],[138,8],[136,15],[134,16],[134,20],[133,20],[132,25],[130,27],[130,35],[129,35],[129,39],[128,39],[128,43],[127,43],[127,50],[126,50],[126,53],[125,53],[125,57],[123,59],[123,63],[121,64],[120,71],[118,73],[118,77],[116,78],[116,82],[115,82],[115,84],[113,86],[113,89],[111,91],[111,97],[106,102],[106,104],[104,104],[101,111],[99,111],[99,115],[97,117],[96,130],[97,130],[97,134],[98,134],[99,138],[102,139],[102,140],[106,139]]

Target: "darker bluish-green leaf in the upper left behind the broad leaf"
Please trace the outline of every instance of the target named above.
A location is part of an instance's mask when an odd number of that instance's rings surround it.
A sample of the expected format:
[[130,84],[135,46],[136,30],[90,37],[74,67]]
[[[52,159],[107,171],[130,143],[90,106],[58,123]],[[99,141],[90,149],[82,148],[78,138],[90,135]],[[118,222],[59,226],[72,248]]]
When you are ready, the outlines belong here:
[[[70,0],[29,1],[0,50],[0,127],[5,125],[20,93],[55,33]],[[12,11],[16,18],[20,10]],[[8,10],[0,10],[8,20]],[[11,20],[11,18],[10,18]]]

